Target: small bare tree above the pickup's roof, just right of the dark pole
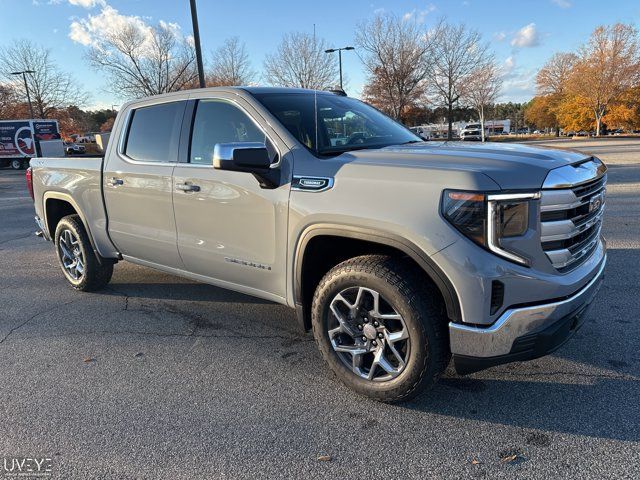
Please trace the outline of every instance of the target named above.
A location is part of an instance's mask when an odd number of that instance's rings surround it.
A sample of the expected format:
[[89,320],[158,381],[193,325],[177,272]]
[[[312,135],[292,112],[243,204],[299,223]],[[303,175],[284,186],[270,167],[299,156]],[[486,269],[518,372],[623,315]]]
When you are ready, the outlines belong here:
[[256,72],[251,68],[247,48],[238,37],[227,39],[211,57],[208,85],[248,85],[256,77]]

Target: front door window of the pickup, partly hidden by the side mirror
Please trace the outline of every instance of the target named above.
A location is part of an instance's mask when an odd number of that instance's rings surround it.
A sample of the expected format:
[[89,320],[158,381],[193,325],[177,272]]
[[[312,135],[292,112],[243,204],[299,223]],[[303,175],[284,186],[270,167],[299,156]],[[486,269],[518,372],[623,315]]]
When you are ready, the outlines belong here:
[[216,143],[265,143],[265,140],[262,130],[235,105],[222,100],[200,100],[193,121],[189,161],[211,165]]

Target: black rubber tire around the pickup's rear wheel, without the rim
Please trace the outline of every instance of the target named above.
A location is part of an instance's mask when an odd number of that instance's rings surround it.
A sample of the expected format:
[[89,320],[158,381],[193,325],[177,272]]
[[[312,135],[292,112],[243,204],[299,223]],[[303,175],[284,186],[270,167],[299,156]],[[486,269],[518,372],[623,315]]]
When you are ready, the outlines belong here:
[[[64,240],[61,240],[61,238],[63,235],[68,235],[65,233],[66,231],[69,231],[77,239],[75,248],[78,249],[83,259],[83,273],[77,278],[74,278],[65,268],[64,249],[61,247],[61,241],[64,242]],[[114,261],[100,257],[93,250],[87,231],[78,215],[68,215],[58,222],[54,241],[60,268],[73,288],[83,292],[93,292],[100,290],[109,283],[111,275],[113,275]]]

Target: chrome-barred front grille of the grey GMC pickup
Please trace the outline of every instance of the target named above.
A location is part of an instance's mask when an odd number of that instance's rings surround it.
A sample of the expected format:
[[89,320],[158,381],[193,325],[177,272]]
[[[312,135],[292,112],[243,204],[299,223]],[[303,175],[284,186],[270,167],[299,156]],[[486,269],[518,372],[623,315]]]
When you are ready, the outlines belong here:
[[593,179],[541,193],[540,241],[560,272],[580,265],[598,245],[607,185],[602,167],[595,169]]

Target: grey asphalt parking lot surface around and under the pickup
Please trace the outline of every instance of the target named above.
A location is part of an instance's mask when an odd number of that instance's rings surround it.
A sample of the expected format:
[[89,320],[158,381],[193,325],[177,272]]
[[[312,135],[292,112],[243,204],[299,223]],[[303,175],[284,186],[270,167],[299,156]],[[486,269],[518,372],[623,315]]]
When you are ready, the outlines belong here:
[[586,325],[401,406],[334,380],[285,307],[127,263],[73,291],[0,170],[0,456],[53,478],[639,478],[640,140],[552,145],[610,168]]

